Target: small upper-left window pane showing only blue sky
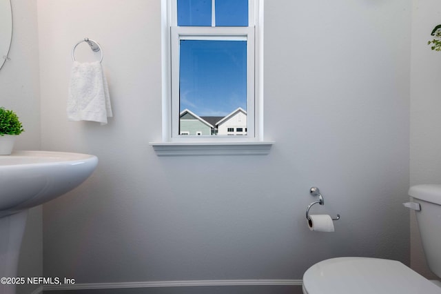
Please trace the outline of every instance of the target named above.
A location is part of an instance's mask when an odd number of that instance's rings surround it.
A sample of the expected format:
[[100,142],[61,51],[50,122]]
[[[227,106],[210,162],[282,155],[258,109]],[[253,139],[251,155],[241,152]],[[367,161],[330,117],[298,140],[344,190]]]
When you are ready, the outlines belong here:
[[212,0],[178,0],[178,26],[212,26]]

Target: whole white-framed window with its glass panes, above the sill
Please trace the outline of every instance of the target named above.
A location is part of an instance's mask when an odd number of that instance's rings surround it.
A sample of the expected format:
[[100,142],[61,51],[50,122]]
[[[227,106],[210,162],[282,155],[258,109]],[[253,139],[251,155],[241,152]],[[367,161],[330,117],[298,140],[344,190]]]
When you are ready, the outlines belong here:
[[[163,9],[163,65],[167,68],[163,74],[163,137],[168,141],[180,141],[181,135],[186,140],[199,136],[222,141],[223,136],[236,135],[235,124],[242,129],[241,139],[261,139],[263,1],[162,3],[167,8]],[[183,121],[185,111],[200,121]],[[211,130],[192,133],[187,131],[190,123],[211,126]],[[244,128],[249,132],[243,133]]]

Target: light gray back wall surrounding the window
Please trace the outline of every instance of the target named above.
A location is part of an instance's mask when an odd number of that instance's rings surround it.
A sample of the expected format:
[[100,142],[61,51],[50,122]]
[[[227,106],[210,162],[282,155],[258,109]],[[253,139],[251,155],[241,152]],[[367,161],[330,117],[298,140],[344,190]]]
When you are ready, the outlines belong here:
[[[148,145],[161,139],[159,0],[37,6],[42,148],[100,159],[43,206],[45,276],[300,280],[329,257],[409,264],[411,0],[266,1],[265,139],[276,144],[243,157],[157,157]],[[107,126],[66,119],[83,37],[105,54]],[[327,203],[313,212],[342,216],[336,233],[307,228],[314,185]]]

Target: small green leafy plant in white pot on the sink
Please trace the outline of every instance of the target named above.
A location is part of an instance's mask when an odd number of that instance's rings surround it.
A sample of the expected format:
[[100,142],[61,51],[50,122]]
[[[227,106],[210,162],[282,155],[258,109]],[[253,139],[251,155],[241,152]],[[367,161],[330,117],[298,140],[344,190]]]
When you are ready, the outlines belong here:
[[19,117],[12,110],[0,107],[0,155],[10,155],[17,135],[23,132]]

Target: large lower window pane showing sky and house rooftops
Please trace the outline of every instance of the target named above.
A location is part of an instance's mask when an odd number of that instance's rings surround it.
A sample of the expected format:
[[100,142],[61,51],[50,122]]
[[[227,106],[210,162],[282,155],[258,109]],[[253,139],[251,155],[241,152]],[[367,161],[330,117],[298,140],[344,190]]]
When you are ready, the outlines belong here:
[[181,40],[179,68],[180,133],[247,127],[247,41]]

